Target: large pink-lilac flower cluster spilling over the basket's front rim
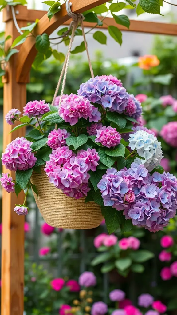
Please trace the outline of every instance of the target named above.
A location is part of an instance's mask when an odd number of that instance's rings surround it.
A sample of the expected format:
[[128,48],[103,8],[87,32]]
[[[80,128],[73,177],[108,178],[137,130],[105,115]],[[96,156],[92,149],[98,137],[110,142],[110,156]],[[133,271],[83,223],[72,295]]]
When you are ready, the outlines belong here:
[[100,157],[95,149],[80,150],[77,156],[68,146],[59,147],[49,155],[45,172],[49,182],[69,197],[87,196],[89,170],[95,171]]

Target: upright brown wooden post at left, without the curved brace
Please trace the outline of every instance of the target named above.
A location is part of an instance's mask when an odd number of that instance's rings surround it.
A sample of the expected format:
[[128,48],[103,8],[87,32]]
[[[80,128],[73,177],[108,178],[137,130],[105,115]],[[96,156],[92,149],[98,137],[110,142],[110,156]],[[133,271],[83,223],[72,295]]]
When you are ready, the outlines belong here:
[[[7,47],[19,36],[12,19],[6,20],[7,11],[4,12],[5,37],[12,36],[7,41]],[[24,13],[27,8],[23,7]],[[26,26],[26,21],[18,21],[20,27]],[[3,117],[12,108],[18,108],[21,112],[26,104],[26,84],[16,82],[17,56],[10,58],[7,76],[4,78]],[[25,135],[25,129],[19,129],[10,133],[14,127],[8,125],[3,119],[3,152],[12,140]],[[9,135],[8,135],[9,134]],[[3,173],[9,173],[13,179],[14,172],[3,168]],[[24,216],[14,212],[15,203],[22,204],[24,193],[21,192],[16,198],[15,193],[7,193],[3,189],[2,204],[2,271],[1,271],[1,315],[23,315],[23,287],[24,287]]]

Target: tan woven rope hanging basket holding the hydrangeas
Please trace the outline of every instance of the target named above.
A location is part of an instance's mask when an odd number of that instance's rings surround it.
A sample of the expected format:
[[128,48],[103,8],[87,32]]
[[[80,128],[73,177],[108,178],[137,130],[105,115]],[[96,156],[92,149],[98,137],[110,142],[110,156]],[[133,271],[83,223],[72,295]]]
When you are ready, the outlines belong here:
[[103,220],[98,204],[85,203],[85,198],[67,197],[49,183],[43,169],[41,174],[33,172],[31,183],[37,187],[39,198],[33,192],[34,198],[45,222],[50,226],[83,230],[97,227]]

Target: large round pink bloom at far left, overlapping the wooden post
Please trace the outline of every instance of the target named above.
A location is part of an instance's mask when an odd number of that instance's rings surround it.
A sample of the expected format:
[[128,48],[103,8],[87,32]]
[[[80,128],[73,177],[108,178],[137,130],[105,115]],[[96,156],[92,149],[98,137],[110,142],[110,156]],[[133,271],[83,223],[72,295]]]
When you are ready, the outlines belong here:
[[2,162],[6,169],[11,171],[25,171],[32,168],[37,158],[34,153],[31,152],[32,142],[26,140],[24,137],[17,137],[11,143],[9,143],[2,154]]

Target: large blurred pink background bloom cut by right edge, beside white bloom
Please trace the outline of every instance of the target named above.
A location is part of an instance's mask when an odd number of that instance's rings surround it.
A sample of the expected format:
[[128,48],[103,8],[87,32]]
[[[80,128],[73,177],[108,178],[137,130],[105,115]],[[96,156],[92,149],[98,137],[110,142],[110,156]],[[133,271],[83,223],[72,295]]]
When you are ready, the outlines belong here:
[[162,127],[160,132],[163,140],[170,146],[177,147],[177,121],[171,121]]

